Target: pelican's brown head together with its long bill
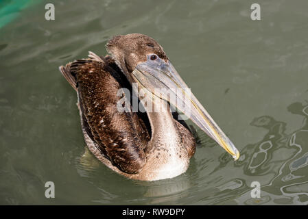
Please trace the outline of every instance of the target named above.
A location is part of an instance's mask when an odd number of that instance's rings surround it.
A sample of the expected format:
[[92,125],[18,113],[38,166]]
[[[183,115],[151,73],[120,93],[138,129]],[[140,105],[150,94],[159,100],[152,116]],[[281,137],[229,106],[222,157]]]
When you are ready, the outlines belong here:
[[[234,159],[239,158],[239,151],[190,92],[158,42],[143,34],[128,34],[115,36],[106,47],[130,83],[174,105]],[[176,98],[169,98],[166,89]]]

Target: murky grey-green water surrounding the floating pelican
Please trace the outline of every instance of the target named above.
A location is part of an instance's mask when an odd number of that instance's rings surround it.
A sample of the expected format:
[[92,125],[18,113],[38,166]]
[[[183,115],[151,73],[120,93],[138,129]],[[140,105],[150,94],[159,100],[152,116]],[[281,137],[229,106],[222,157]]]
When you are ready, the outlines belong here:
[[[252,3],[261,21],[250,19]],[[307,10],[306,0],[91,0],[20,11],[0,29],[0,204],[307,205]],[[239,149],[237,162],[200,131],[174,179],[132,181],[82,157],[76,94],[58,66],[105,55],[108,38],[128,33],[164,47]],[[45,198],[46,181],[56,198]],[[252,181],[261,198],[250,196]]]

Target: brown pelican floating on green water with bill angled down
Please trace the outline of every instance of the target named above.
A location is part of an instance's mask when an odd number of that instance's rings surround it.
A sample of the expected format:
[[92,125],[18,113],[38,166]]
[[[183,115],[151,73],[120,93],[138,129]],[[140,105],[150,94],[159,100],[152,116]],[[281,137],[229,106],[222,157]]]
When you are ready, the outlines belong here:
[[[60,66],[78,94],[82,131],[88,149],[106,166],[130,179],[154,181],[185,172],[196,141],[170,104],[213,138],[235,159],[239,152],[180,78],[158,42],[143,34],[115,36],[106,45],[110,55],[89,53],[87,59]],[[132,86],[137,84],[138,86]],[[139,98],[145,110],[120,112],[125,92],[145,90]],[[169,98],[166,92],[174,94]],[[180,90],[180,92],[178,92]],[[126,96],[125,96],[126,95]],[[148,98],[145,98],[147,97]],[[147,101],[145,101],[145,99]],[[167,104],[166,104],[167,103]],[[125,105],[125,104],[124,104]],[[189,114],[185,107],[189,107]]]

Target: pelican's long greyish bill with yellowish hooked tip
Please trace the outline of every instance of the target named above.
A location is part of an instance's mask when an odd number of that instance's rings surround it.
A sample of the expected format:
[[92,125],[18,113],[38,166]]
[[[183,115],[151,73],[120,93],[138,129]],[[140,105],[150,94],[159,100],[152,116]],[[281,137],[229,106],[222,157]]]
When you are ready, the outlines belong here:
[[132,77],[152,94],[178,108],[202,131],[230,153],[235,160],[239,158],[237,148],[206,112],[196,96],[190,92],[186,83],[169,61],[166,63],[159,58],[153,61],[148,55],[146,62],[137,65],[132,72]]

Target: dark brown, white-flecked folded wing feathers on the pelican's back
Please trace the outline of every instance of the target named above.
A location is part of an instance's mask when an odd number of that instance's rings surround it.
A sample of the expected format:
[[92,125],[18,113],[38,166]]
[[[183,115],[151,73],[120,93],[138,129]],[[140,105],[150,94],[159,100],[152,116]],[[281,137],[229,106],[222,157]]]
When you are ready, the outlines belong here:
[[[140,172],[146,162],[143,151],[148,133],[133,112],[118,112],[119,81],[110,74],[110,66],[93,60],[77,60],[69,66],[78,84],[80,107],[86,129],[113,165],[130,174]],[[109,71],[108,71],[109,70]]]

